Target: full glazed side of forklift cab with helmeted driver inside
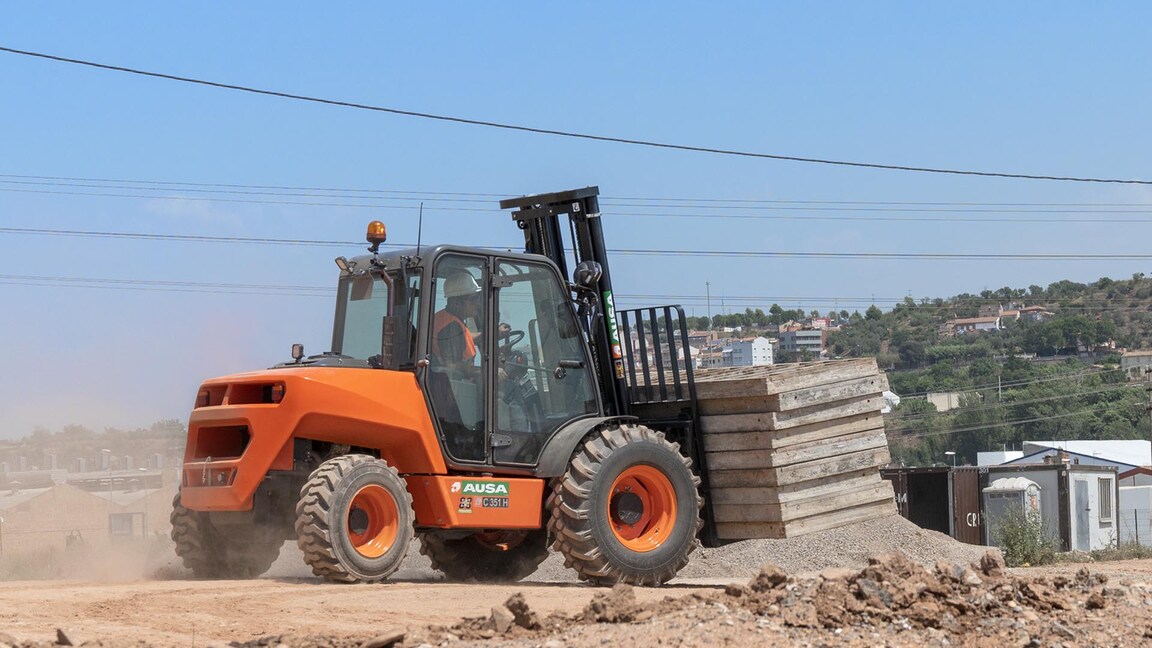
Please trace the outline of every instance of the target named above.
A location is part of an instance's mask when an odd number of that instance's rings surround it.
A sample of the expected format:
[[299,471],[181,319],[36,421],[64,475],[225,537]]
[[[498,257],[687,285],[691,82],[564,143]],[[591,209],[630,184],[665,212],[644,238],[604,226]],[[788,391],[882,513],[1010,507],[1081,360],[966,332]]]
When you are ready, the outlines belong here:
[[601,412],[567,284],[531,255],[444,247],[430,264],[419,355],[447,455],[535,466],[561,425]]

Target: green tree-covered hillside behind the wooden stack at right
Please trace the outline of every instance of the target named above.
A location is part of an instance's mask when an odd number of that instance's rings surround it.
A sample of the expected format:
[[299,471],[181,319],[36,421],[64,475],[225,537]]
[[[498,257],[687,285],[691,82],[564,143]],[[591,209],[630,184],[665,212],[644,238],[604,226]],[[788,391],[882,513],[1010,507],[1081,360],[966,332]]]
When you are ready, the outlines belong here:
[[[949,321],[991,309],[1043,307],[1040,321],[952,336]],[[1152,279],[1058,281],[950,299],[905,299],[855,315],[828,336],[833,356],[877,357],[902,401],[887,422],[894,459],[910,466],[975,464],[980,451],[1024,440],[1149,438],[1144,383],[1120,371],[1120,352],[1152,348]],[[960,394],[937,412],[930,392]]]

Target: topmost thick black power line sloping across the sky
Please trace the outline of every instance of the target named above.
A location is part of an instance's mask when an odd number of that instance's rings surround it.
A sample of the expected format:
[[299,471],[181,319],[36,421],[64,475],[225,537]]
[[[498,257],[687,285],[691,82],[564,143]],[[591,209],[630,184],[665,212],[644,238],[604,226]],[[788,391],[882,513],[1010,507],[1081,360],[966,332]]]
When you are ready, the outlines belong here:
[[412,118],[419,118],[419,119],[446,121],[446,122],[453,122],[453,123],[463,123],[463,125],[469,125],[469,126],[483,126],[483,127],[487,127],[487,128],[500,128],[500,129],[505,129],[505,130],[517,130],[517,131],[523,131],[523,133],[533,133],[533,134],[538,134],[538,135],[554,135],[554,136],[559,136],[559,137],[571,137],[571,138],[578,138],[578,140],[590,140],[590,141],[596,141],[596,142],[611,142],[611,143],[616,143],[616,144],[630,144],[630,145],[636,145],[636,146],[649,146],[649,148],[655,148],[655,149],[690,151],[690,152],[697,152],[697,153],[713,153],[713,155],[735,156],[735,157],[744,157],[744,158],[773,159],[773,160],[781,160],[781,161],[795,161],[795,163],[806,163],[806,164],[823,164],[823,165],[832,165],[832,166],[847,166],[847,167],[856,167],[856,168],[876,168],[876,169],[884,169],[884,171],[907,171],[907,172],[917,172],[917,173],[938,173],[938,174],[950,174],[950,175],[972,175],[972,176],[983,176],[983,178],[1008,178],[1008,179],[1016,179],[1016,180],[1051,180],[1051,181],[1059,181],[1059,182],[1101,182],[1101,183],[1116,183],[1116,184],[1152,184],[1152,181],[1149,181],[1149,180],[1122,180],[1122,179],[1109,179],[1109,178],[1078,178],[1078,176],[1063,176],[1063,175],[1033,175],[1033,174],[1024,174],[1024,173],[1001,173],[1001,172],[970,171],[970,169],[935,168],[935,167],[924,167],[924,166],[890,165],[890,164],[878,164],[878,163],[861,163],[861,161],[833,160],[833,159],[823,159],[823,158],[808,158],[808,157],[798,157],[798,156],[783,156],[783,155],[776,155],[776,153],[760,153],[760,152],[752,152],[752,151],[738,151],[738,150],[718,149],[718,148],[711,148],[711,146],[691,146],[691,145],[687,145],[687,144],[672,144],[672,143],[666,143],[666,142],[654,142],[654,141],[649,141],[649,140],[634,140],[634,138],[627,138],[627,137],[612,137],[612,136],[606,136],[606,135],[591,135],[591,134],[574,133],[574,131],[568,131],[568,130],[556,130],[556,129],[550,129],[550,128],[536,128],[536,127],[530,127],[530,126],[518,126],[518,125],[513,125],[513,123],[502,123],[502,122],[487,121],[487,120],[468,119],[468,118],[450,116],[450,115],[439,115],[439,114],[423,113],[423,112],[416,112],[416,111],[406,111],[406,110],[391,108],[391,107],[385,107],[385,106],[372,106],[372,105],[369,105],[369,104],[359,104],[359,103],[355,103],[355,101],[343,101],[343,100],[336,100],[336,99],[324,99],[324,98],[319,98],[319,97],[310,97],[310,96],[305,96],[305,95],[295,95],[295,93],[290,93],[290,92],[280,92],[280,91],[274,91],[274,90],[263,90],[263,89],[251,88],[251,86],[247,86],[247,85],[236,85],[236,84],[232,84],[232,83],[220,83],[220,82],[215,82],[215,81],[206,81],[206,80],[194,78],[194,77],[188,77],[188,76],[177,76],[177,75],[172,75],[172,74],[162,74],[162,73],[156,73],[156,71],[147,71],[147,70],[142,70],[142,69],[136,69],[136,68],[123,67],[123,66],[112,66],[112,65],[107,65],[107,63],[98,63],[98,62],[94,62],[94,61],[86,61],[86,60],[82,60],[82,59],[71,59],[71,58],[66,58],[66,56],[58,56],[58,55],[54,55],[54,54],[45,54],[45,53],[40,53],[40,52],[30,52],[30,51],[26,51],[26,50],[15,50],[15,48],[12,48],[12,47],[2,47],[2,46],[0,46],[0,52],[8,52],[8,53],[12,53],[12,54],[20,54],[22,56],[33,56],[33,58],[45,59],[45,60],[50,60],[50,61],[58,61],[58,62],[63,62],[63,63],[73,63],[73,65],[78,65],[78,66],[86,66],[86,67],[92,67],[92,68],[98,68],[98,69],[105,69],[105,70],[112,70],[112,71],[122,71],[122,73],[135,74],[135,75],[139,75],[139,76],[147,76],[147,77],[153,77],[153,78],[165,78],[165,80],[168,80],[168,81],[179,81],[181,83],[191,83],[191,84],[196,84],[196,85],[206,85],[206,86],[210,86],[210,88],[219,88],[219,89],[223,89],[223,90],[237,90],[237,91],[241,91],[241,92],[251,92],[253,95],[265,95],[265,96],[270,96],[270,97],[280,97],[280,98],[285,98],[285,99],[295,99],[295,100],[300,100],[300,101],[311,101],[311,103],[316,103],[316,104],[325,104],[325,105],[331,105],[331,106],[341,106],[341,107],[347,107],[347,108],[356,108],[356,110],[363,110],[363,111],[373,111],[373,112],[389,113],[389,114],[396,114],[396,115],[403,115],[403,116],[412,116]]

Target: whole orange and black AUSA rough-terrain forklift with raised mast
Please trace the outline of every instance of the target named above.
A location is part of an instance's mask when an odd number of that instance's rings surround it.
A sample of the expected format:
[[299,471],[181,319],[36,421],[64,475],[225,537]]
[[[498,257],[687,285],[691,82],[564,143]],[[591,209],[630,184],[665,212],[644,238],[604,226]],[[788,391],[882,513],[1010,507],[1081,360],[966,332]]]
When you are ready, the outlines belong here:
[[336,258],[331,352],[200,386],[184,565],[251,578],[295,538],[317,575],[374,582],[416,537],[450,579],[523,578],[550,545],[596,583],[673,578],[714,537],[688,331],[615,309],[598,193],[502,201],[524,253],[381,251],[370,224]]

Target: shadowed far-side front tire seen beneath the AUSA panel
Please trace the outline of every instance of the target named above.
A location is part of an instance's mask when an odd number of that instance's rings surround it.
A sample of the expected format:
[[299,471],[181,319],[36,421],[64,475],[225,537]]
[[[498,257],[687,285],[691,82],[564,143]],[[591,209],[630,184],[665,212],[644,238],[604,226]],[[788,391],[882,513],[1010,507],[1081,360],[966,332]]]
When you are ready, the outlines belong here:
[[516,581],[530,575],[548,557],[544,529],[483,530],[463,537],[439,530],[420,532],[420,553],[448,580]]

